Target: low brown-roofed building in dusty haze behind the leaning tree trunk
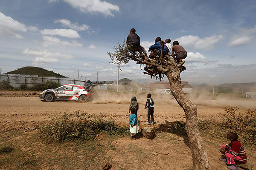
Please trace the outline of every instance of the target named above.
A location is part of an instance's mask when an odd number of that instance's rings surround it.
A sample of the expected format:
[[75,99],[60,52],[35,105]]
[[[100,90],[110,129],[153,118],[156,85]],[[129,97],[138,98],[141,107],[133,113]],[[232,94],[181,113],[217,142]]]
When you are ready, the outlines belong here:
[[[170,83],[169,82],[151,82],[148,85],[149,88],[156,88],[156,89],[170,89]],[[184,91],[185,94],[192,93],[193,87],[189,85],[188,82],[181,82],[181,88]]]

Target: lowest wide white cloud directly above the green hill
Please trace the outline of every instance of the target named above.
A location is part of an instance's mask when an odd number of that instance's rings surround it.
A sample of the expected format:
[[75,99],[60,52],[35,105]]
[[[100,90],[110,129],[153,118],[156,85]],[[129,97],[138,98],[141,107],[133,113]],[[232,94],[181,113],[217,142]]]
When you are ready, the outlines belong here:
[[59,62],[58,58],[64,59],[74,59],[76,56],[60,53],[60,52],[53,52],[48,49],[33,49],[33,48],[26,48],[20,52],[20,54],[29,55],[35,57],[32,59],[33,64],[46,64],[51,62]]

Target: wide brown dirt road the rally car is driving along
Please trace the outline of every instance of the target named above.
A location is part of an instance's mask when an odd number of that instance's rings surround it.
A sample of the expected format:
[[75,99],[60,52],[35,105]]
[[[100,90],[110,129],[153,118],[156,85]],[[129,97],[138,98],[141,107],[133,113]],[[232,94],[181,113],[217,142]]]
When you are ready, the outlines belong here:
[[[0,128],[1,131],[31,129],[39,123],[46,122],[52,113],[74,112],[81,110],[90,114],[100,115],[104,119],[112,119],[117,123],[128,122],[128,107],[131,95],[105,93],[95,97],[89,102],[55,101],[45,102],[38,99],[37,95],[29,95],[23,92],[5,92],[0,96]],[[8,94],[9,93],[9,94]],[[22,94],[20,94],[22,93]],[[169,96],[154,96],[154,119],[157,124],[167,121],[184,121],[183,109],[175,99]],[[142,125],[147,120],[147,111],[144,109],[145,96],[137,96],[139,102],[138,118]],[[224,106],[239,106],[240,112],[255,107],[255,101],[214,99],[192,100],[198,106],[198,118],[209,119],[211,116],[219,117],[224,113]]]

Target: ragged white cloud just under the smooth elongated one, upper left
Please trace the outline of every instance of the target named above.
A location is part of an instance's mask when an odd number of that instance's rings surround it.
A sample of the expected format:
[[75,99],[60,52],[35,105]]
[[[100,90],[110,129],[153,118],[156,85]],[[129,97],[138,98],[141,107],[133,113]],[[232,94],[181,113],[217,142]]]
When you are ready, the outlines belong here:
[[66,46],[73,46],[73,47],[82,47],[83,45],[78,43],[77,41],[67,42],[67,41],[61,41],[60,39],[56,37],[51,36],[43,36],[42,37],[44,42],[41,42],[40,44],[44,47],[50,47],[50,46],[58,46],[58,47],[66,47]]

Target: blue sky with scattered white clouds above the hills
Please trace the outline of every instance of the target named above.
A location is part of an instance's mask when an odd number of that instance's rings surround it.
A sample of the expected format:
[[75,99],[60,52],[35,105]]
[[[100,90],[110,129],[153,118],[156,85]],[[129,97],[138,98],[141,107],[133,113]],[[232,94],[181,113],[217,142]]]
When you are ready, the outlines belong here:
[[[255,9],[254,0],[0,0],[0,68],[116,80],[107,52],[135,28],[146,49],[161,37],[188,51],[182,81],[256,82]],[[119,79],[155,81],[133,61],[121,69]]]

